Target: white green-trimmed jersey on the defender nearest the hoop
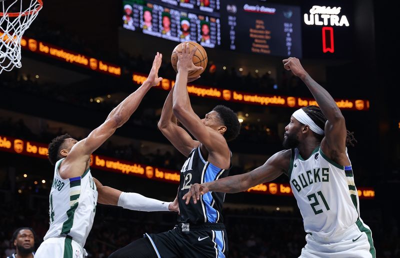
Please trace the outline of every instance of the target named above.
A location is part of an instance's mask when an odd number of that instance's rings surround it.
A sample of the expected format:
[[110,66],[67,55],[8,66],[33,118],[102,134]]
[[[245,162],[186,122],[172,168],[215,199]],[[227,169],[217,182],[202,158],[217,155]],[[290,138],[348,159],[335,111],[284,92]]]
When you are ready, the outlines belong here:
[[93,225],[97,203],[97,190],[88,168],[81,176],[62,179],[55,163],[54,179],[50,191],[50,227],[44,236],[69,235],[82,247]]

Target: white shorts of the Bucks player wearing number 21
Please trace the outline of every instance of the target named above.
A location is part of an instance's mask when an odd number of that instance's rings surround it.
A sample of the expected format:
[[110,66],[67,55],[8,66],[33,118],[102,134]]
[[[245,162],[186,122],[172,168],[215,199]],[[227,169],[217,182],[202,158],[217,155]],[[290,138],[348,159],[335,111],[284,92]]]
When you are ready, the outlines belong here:
[[331,241],[311,234],[307,234],[305,240],[301,258],[375,258],[371,230],[361,220]]

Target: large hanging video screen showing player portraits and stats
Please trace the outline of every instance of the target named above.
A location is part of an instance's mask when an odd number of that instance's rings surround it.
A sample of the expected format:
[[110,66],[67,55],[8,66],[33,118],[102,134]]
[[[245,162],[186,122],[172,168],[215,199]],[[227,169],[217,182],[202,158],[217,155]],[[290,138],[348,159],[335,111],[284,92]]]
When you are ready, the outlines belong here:
[[301,57],[300,7],[257,0],[123,0],[122,26],[177,42]]

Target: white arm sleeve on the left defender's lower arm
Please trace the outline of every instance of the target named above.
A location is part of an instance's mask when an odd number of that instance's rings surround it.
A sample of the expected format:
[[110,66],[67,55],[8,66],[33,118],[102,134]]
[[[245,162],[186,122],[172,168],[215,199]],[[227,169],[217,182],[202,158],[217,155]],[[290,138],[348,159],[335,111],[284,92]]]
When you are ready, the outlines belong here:
[[118,199],[118,206],[139,211],[169,211],[169,203],[147,198],[135,192],[122,192]]

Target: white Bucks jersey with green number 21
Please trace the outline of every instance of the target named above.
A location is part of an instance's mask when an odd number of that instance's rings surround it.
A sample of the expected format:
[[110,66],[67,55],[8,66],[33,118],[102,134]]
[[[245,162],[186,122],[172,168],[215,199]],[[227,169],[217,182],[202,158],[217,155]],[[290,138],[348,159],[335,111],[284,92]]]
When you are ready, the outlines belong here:
[[357,221],[358,195],[351,165],[330,160],[320,146],[307,159],[295,148],[291,150],[289,178],[305,232],[332,237]]

